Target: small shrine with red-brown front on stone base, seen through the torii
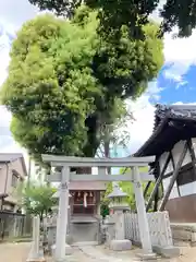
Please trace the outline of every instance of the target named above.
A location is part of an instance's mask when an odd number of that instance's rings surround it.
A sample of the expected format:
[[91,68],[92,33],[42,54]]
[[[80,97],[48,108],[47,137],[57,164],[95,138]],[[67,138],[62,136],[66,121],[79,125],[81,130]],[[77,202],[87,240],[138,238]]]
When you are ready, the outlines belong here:
[[[68,235],[69,245],[79,245],[88,242],[98,245],[100,236],[100,194],[107,187],[106,182],[100,181],[71,181],[70,206],[68,211]],[[59,198],[57,192],[54,198]],[[49,225],[50,246],[56,241],[57,222],[52,221]]]

